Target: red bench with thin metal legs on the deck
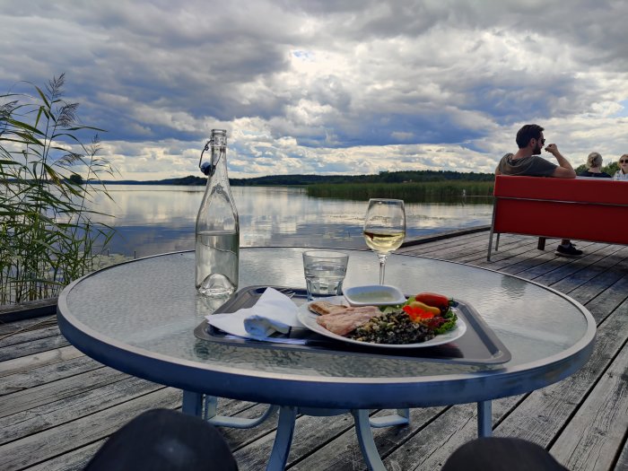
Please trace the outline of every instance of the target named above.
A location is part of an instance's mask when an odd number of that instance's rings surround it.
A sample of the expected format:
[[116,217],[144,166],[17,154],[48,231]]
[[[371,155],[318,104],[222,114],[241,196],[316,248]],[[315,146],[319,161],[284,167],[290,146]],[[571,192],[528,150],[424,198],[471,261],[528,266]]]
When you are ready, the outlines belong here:
[[502,232],[628,245],[628,183],[612,179],[495,177],[487,260]]

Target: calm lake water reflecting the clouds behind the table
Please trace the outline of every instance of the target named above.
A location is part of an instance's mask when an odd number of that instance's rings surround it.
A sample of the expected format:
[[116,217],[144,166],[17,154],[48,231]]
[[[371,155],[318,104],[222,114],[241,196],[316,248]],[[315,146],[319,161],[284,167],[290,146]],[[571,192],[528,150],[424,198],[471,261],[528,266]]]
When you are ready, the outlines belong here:
[[[115,219],[110,253],[145,257],[194,249],[196,214],[204,187],[109,185],[95,207]],[[367,203],[307,196],[302,188],[232,187],[240,215],[240,246],[364,249]],[[406,205],[406,239],[490,224],[491,204]],[[95,217],[93,219],[96,219]],[[98,218],[100,220],[100,218]]]

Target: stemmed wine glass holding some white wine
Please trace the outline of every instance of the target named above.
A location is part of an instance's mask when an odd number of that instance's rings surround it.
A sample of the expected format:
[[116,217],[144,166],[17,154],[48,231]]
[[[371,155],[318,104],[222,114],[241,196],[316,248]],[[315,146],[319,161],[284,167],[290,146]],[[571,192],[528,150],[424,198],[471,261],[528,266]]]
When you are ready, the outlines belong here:
[[384,284],[386,257],[406,237],[406,209],[401,199],[371,198],[364,219],[364,240],[379,257],[379,284]]

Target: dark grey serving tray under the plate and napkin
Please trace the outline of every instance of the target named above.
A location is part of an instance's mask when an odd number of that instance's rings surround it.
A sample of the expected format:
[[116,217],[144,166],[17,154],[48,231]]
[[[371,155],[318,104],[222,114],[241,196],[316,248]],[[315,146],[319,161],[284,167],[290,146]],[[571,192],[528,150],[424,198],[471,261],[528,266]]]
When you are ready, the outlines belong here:
[[[236,292],[226,301],[215,314],[235,312],[242,308],[250,308],[266,290],[267,286],[250,286]],[[302,289],[274,286],[280,291],[294,292],[292,300],[302,304],[307,293]],[[194,334],[208,342],[219,342],[233,346],[255,346],[279,350],[300,350],[307,352],[337,352],[344,354],[367,354],[379,357],[409,358],[421,361],[455,362],[465,364],[499,364],[510,361],[510,352],[502,341],[484,322],[484,319],[466,302],[455,300],[454,307],[458,316],[467,323],[467,332],[454,342],[432,347],[382,349],[368,345],[354,345],[339,342],[326,336],[319,336],[308,328],[292,327],[288,334],[275,334],[265,340],[254,340],[240,336],[232,336],[222,330],[210,326],[206,320],[199,324]]]

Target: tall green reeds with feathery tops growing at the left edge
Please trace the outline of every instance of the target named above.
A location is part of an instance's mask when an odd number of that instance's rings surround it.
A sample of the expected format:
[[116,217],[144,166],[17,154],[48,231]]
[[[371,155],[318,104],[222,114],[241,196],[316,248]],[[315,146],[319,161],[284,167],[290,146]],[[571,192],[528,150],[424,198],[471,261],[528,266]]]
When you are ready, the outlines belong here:
[[0,95],[0,304],[56,296],[92,271],[93,249],[113,235],[86,207],[97,191],[109,196],[89,181],[114,170],[97,156],[97,135],[79,139],[100,129],[79,124],[64,82],[62,74],[44,90],[29,83],[35,96]]

